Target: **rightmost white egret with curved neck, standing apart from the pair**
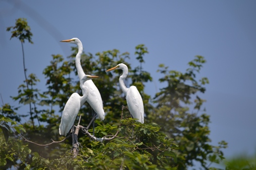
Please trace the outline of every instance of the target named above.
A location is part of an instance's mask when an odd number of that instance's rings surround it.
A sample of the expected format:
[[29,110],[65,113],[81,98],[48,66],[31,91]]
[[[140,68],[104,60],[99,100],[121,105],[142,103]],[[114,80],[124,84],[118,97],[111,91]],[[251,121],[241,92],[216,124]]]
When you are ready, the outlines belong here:
[[143,101],[139,94],[139,91],[137,90],[137,88],[135,86],[126,88],[126,86],[124,84],[124,79],[128,75],[128,67],[125,64],[121,63],[113,68],[108,69],[107,71],[111,71],[114,69],[122,69],[123,70],[123,74],[119,77],[119,85],[120,85],[121,90],[123,91],[123,93],[126,96],[128,109],[129,109],[132,117],[134,119],[138,119],[138,120],[136,120],[137,122],[144,123],[144,106],[143,106]]

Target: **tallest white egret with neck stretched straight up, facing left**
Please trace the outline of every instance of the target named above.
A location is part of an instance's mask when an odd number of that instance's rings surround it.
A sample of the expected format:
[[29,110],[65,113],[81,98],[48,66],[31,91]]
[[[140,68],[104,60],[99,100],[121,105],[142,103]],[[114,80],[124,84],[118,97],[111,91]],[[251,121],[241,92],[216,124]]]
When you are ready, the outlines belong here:
[[[83,96],[86,93],[87,102],[91,106],[91,108],[96,112],[97,116],[100,120],[104,120],[105,113],[103,110],[103,102],[101,96],[99,94],[98,89],[96,88],[95,84],[91,79],[84,81],[81,83],[82,78],[86,75],[81,66],[81,54],[83,52],[83,45],[82,42],[78,38],[72,38],[69,40],[63,40],[61,42],[68,42],[72,44],[76,44],[78,46],[78,53],[76,54],[76,69],[80,80],[80,88],[82,89]],[[77,105],[77,104],[76,104]],[[80,108],[79,108],[80,109]],[[94,120],[94,117],[93,117]]]

